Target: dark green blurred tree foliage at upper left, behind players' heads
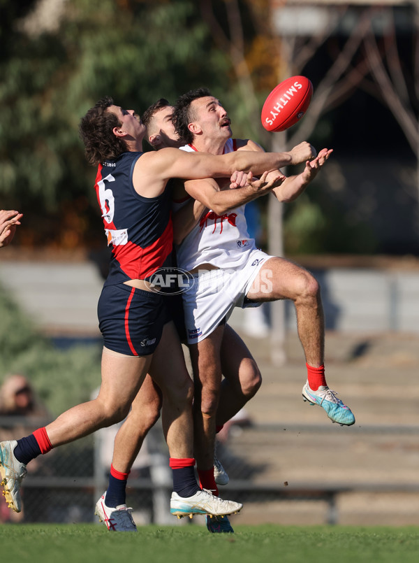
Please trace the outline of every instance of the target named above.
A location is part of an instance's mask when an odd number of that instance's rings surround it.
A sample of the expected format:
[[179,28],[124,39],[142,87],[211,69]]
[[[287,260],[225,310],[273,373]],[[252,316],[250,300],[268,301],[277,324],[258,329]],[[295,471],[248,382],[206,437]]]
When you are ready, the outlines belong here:
[[65,6],[59,29],[38,35],[18,31],[22,11],[10,10],[0,55],[1,207],[24,213],[19,241],[27,246],[102,241],[94,170],[78,138],[80,117],[99,98],[141,112],[162,96],[227,85],[225,57],[210,50],[192,1]]

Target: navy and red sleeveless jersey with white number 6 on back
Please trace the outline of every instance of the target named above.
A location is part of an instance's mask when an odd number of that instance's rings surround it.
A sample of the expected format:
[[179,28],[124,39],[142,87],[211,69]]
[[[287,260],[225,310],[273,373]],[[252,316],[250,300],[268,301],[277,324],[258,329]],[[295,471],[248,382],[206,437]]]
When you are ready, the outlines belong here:
[[173,243],[169,185],[158,197],[142,197],[133,186],[133,169],[142,152],[124,152],[99,164],[95,190],[112,246],[105,285],[147,280],[170,266]]

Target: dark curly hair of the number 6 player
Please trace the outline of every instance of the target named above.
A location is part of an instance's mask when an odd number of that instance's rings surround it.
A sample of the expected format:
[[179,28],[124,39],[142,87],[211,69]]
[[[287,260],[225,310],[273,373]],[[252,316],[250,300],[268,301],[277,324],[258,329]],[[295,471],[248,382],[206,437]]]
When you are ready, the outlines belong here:
[[117,158],[128,151],[124,139],[113,134],[121,122],[115,113],[107,111],[114,101],[110,96],[100,99],[80,120],[80,137],[84,143],[87,162],[99,164],[108,158]]

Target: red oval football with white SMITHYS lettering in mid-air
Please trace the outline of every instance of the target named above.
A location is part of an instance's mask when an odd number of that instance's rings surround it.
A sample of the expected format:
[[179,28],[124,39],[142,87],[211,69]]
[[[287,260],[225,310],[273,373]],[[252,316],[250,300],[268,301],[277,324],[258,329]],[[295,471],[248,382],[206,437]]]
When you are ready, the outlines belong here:
[[267,131],[284,131],[306,113],[313,85],[305,76],[291,76],[277,87],[267,97],[263,104],[261,120]]

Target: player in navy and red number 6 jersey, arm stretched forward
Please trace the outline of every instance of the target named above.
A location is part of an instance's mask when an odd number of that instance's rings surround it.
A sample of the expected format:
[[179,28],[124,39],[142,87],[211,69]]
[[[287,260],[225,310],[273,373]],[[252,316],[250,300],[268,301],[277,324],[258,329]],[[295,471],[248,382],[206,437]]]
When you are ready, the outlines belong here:
[[[149,277],[166,264],[171,252],[170,178],[229,177],[235,171],[250,170],[263,173],[293,163],[291,152],[213,156],[165,148],[142,153],[144,125],[135,111],[115,105],[110,97],[98,101],[84,115],[80,134],[89,163],[98,165],[96,193],[112,245],[110,273],[98,303],[104,341],[102,383],[96,399],[74,406],[29,436],[0,443],[4,494],[17,512],[21,510],[20,483],[27,463],[52,448],[123,420],[142,385],[165,320],[163,297],[152,290]],[[193,385],[182,363],[177,365],[182,350],[175,329],[170,323],[164,326],[168,327],[164,338],[172,370],[156,383],[167,407],[163,429],[174,482],[170,511],[180,516],[235,512],[242,505],[217,499],[196,483]],[[116,482],[124,480],[124,471],[117,466],[112,469]],[[110,502],[103,498],[96,506],[99,517],[112,529],[135,529],[126,505],[110,506]]]

